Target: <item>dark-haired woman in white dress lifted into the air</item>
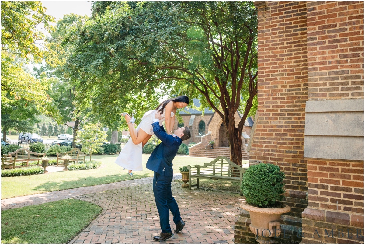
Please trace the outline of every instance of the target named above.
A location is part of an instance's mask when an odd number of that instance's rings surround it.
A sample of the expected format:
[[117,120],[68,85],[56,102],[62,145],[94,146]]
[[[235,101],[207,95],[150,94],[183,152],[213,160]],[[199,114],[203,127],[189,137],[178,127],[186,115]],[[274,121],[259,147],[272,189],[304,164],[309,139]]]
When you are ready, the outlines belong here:
[[[128,140],[123,150],[120,152],[115,163],[123,169],[128,169],[128,174],[132,176],[132,171],[142,171],[142,148],[153,135],[152,121],[155,118],[155,112],[161,114],[160,126],[165,121],[166,132],[172,134],[175,124],[175,113],[177,109],[183,108],[189,104],[188,96],[181,95],[162,102],[155,110],[147,111],[137,129],[132,125],[135,121],[133,117],[124,112],[121,115],[127,121],[131,138]],[[170,115],[165,118],[165,115]]]

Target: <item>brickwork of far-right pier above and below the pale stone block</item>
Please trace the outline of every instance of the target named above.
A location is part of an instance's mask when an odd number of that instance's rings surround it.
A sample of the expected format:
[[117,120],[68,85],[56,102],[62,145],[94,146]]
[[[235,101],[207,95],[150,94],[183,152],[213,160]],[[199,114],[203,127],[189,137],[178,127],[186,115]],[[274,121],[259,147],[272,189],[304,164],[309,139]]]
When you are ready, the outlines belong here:
[[[308,2],[308,98],[364,98],[364,3]],[[364,242],[364,163],[308,160],[304,243]],[[334,238],[324,238],[325,229]],[[359,230],[358,230],[359,229]],[[314,231],[319,236],[314,234]],[[345,235],[338,234],[345,231]],[[352,238],[347,236],[352,230]],[[350,231],[351,232],[351,231]]]

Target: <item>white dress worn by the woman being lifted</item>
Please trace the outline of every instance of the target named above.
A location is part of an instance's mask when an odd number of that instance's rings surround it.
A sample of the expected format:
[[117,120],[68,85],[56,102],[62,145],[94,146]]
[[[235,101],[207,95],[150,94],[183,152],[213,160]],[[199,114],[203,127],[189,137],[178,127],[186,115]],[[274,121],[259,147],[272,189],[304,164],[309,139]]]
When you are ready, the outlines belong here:
[[[164,113],[161,115],[162,119],[160,119],[160,126],[165,120],[165,111],[166,108],[164,108]],[[145,131],[147,134],[153,135],[152,121],[155,119],[155,112],[156,110],[147,111],[143,115],[142,121],[139,123],[136,130],[138,131],[138,129],[143,129],[143,131]],[[171,117],[174,115],[175,114],[171,112]],[[135,145],[132,141],[132,138],[130,138],[120,152],[119,156],[116,158],[115,163],[125,169],[132,171],[142,171],[142,142],[138,145]]]

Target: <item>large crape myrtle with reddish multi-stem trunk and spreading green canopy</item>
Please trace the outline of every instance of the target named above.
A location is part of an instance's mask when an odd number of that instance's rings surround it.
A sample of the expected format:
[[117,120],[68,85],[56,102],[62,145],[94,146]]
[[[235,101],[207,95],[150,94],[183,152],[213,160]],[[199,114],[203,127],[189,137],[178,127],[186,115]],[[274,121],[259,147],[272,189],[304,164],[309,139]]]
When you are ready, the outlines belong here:
[[[148,100],[154,88],[199,98],[201,109],[212,108],[222,118],[231,161],[242,165],[241,133],[257,104],[253,3],[98,4],[93,19],[68,36],[76,47],[70,74],[81,79],[79,88],[100,89],[97,99],[92,92],[84,100],[100,108],[115,103],[116,109],[134,95]],[[238,109],[243,115],[237,122]]]

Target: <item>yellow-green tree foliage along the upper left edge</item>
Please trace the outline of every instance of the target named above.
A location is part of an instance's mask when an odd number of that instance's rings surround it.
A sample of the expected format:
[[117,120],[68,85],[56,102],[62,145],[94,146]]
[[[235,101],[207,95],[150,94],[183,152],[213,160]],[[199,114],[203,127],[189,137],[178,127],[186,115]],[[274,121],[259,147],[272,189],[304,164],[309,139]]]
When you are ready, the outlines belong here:
[[[3,129],[9,126],[11,120],[19,116],[16,114],[18,111],[27,111],[19,117],[19,122],[13,122],[17,125],[16,127],[25,125],[22,126],[23,130],[34,126],[37,122],[34,116],[37,114],[51,116],[56,121],[61,120],[52,99],[47,95],[47,88],[22,68],[24,62],[40,62],[43,58],[46,62],[54,60],[55,49],[50,47],[46,36],[37,28],[40,23],[43,23],[46,30],[52,28],[49,22],[53,22],[54,18],[46,15],[45,11],[46,8],[39,1],[1,2],[1,126]],[[39,48],[41,46],[45,48]],[[25,118],[24,115],[29,117]],[[3,118],[6,118],[6,122]],[[4,139],[5,136],[6,134]]]

